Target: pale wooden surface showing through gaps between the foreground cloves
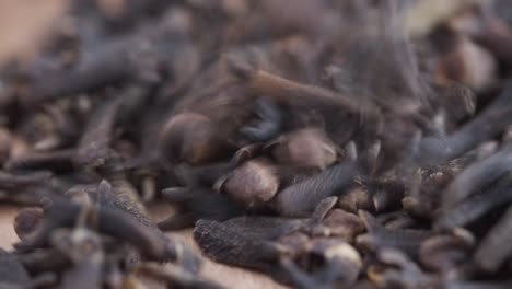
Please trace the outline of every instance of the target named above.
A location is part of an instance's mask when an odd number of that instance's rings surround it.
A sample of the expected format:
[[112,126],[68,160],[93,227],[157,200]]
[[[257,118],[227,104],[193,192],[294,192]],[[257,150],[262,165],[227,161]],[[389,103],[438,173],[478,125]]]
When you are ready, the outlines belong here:
[[[18,241],[18,236],[12,227],[14,216],[19,208],[13,206],[0,206],[0,247],[10,250],[12,244]],[[174,238],[181,238],[186,240],[187,243],[191,244],[196,251],[198,251],[195,242],[191,238],[191,232],[182,232],[178,234],[171,234]],[[214,280],[226,288],[236,289],[256,289],[256,288],[286,288],[274,282],[266,276],[246,271],[240,268],[229,267],[221,264],[213,263],[205,258],[205,264],[201,274]]]

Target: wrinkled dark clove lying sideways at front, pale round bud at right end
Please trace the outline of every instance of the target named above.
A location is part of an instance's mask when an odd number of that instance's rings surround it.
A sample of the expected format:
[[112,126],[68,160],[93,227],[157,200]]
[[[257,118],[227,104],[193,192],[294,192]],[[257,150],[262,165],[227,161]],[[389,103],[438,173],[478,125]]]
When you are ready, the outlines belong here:
[[[330,243],[329,241],[321,241],[322,238],[317,241],[310,241],[302,233],[316,234],[323,232],[323,235],[325,233],[329,234],[330,231],[326,231],[328,222],[325,222],[325,220],[328,218],[326,216],[328,216],[336,200],[336,197],[323,200],[311,219],[238,217],[222,223],[199,220],[196,223],[194,236],[201,250],[213,259],[264,271],[282,282],[288,282],[288,277],[283,275],[280,266],[278,266],[279,258],[295,255],[298,257],[301,254],[307,254],[304,251],[311,248],[311,254],[323,256],[326,259],[325,274],[330,277],[325,277],[325,282],[328,282],[327,279],[330,278],[351,282],[359,273],[358,268],[360,268],[360,259],[353,258],[353,256],[359,256],[357,253],[356,255],[352,254],[353,248],[351,251],[344,250],[346,243],[334,239]],[[229,234],[231,238],[221,238],[222,234]],[[298,238],[298,234],[301,238]],[[259,254],[256,254],[254,250],[258,250]],[[226,252],[229,253],[225,254]],[[337,258],[337,256],[340,257],[340,262],[334,262],[334,267],[330,267],[331,263],[327,262],[327,259],[330,261]],[[357,259],[359,262],[356,262],[356,264],[350,263]],[[339,274],[340,266],[347,269],[342,270],[344,274],[341,275]],[[356,270],[349,270],[349,268]],[[319,273],[318,276],[322,276],[322,274]]]

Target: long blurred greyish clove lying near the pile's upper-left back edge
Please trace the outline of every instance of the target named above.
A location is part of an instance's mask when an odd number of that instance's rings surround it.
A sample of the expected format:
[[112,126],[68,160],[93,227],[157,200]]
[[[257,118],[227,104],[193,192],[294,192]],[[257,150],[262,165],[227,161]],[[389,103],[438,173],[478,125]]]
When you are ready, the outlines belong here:
[[[101,45],[97,42],[84,45],[83,48],[86,50],[71,69],[40,71],[40,68],[34,66],[32,71],[28,71],[31,81],[21,95],[23,102],[28,106],[91,92],[129,78],[151,79],[148,76],[158,74],[159,71],[154,71],[158,68],[148,65],[151,62],[149,59],[159,62],[162,60],[159,49],[168,48],[165,42],[155,41],[158,36],[165,35],[165,25],[153,24],[155,25],[151,30],[142,25],[133,35],[113,37]],[[146,62],[135,58],[133,50],[143,54]],[[158,76],[151,77],[158,78]]]

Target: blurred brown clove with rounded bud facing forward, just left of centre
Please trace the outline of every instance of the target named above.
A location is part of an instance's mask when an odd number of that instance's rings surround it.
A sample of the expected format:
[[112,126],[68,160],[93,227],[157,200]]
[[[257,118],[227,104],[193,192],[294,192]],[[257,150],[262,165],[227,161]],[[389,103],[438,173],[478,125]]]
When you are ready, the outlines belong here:
[[229,158],[240,129],[251,122],[255,97],[229,76],[223,61],[216,61],[202,77],[196,82],[206,89],[181,99],[159,131],[159,151],[172,163],[197,165]]

